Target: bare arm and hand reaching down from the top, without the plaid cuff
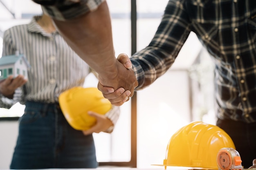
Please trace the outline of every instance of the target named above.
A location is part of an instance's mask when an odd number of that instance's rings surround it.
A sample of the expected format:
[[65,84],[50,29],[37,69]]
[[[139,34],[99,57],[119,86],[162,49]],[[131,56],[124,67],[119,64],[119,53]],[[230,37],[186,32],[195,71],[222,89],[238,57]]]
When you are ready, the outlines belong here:
[[[134,72],[117,61],[112,42],[108,5],[103,2],[95,11],[72,20],[55,20],[67,44],[99,74],[99,82],[114,90],[122,87],[132,97],[137,80]],[[120,92],[121,93],[121,92]],[[128,100],[128,97],[124,100]],[[120,106],[120,104],[115,104]]]

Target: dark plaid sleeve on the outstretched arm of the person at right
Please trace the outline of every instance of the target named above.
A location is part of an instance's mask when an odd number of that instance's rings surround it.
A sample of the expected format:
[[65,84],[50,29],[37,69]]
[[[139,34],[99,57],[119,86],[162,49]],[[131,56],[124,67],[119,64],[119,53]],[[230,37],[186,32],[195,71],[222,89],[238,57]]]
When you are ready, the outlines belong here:
[[[184,4],[182,4],[182,2]],[[130,57],[139,85],[152,84],[171,67],[191,32],[191,20],[185,0],[170,0],[153,39],[145,49]]]

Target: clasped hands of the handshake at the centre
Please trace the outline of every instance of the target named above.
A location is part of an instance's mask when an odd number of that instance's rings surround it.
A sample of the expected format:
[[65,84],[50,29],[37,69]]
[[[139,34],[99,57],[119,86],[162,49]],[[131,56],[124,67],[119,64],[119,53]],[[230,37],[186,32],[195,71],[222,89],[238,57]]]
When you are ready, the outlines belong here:
[[[109,79],[99,75],[98,89],[112,105],[121,106],[129,100],[129,97],[132,97],[138,82],[134,71],[131,69],[132,64],[129,57],[126,54],[119,54],[117,60],[118,73],[116,77]],[[111,84],[111,87],[104,86],[104,84]]]

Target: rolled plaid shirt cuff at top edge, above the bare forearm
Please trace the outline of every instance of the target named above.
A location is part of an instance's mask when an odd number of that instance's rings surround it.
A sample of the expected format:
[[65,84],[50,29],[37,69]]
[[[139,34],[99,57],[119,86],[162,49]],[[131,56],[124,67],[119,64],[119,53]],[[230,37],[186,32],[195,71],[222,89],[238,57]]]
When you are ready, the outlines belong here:
[[33,0],[56,20],[70,20],[96,10],[105,0]]

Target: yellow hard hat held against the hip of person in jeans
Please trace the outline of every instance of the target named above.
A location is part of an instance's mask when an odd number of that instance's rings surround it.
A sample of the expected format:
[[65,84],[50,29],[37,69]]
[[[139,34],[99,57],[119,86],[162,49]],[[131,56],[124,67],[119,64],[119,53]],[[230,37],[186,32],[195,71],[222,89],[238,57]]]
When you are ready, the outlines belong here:
[[96,124],[96,118],[88,111],[106,114],[111,103],[97,88],[74,87],[59,96],[59,104],[67,122],[76,130],[88,130]]

